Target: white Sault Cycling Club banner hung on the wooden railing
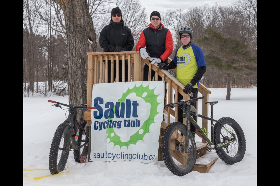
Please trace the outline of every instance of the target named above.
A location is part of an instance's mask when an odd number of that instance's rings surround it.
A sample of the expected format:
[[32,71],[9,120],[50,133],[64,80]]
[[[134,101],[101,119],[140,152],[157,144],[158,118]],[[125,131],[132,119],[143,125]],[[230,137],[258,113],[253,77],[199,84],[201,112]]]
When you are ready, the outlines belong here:
[[163,81],[95,84],[89,161],[155,159],[163,103]]

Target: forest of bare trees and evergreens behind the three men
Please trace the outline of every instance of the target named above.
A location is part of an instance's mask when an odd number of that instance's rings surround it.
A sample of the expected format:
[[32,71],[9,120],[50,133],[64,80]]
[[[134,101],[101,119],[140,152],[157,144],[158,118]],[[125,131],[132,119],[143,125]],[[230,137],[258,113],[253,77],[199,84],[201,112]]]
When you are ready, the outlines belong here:
[[[147,27],[148,14],[137,0],[87,0],[95,30],[95,51],[99,33],[110,22],[113,7],[120,7],[122,19],[134,37],[134,50],[141,31]],[[69,42],[61,4],[52,0],[23,1],[23,85],[24,92],[68,93]],[[181,46],[178,30],[188,25],[192,42],[204,52],[206,87],[257,86],[257,2],[241,0],[231,6],[209,6],[161,13],[161,22],[173,37],[174,52]],[[94,37],[92,37],[94,38]],[[174,53],[170,56],[172,59]],[[45,82],[44,88],[38,86]],[[26,94],[29,95],[29,94]]]

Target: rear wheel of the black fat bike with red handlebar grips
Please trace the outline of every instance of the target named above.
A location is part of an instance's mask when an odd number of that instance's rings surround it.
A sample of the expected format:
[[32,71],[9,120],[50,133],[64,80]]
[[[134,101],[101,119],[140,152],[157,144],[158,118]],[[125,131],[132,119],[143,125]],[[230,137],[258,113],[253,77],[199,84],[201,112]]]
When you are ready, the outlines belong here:
[[81,127],[84,128],[83,134],[79,134],[78,137],[78,146],[82,146],[81,149],[74,150],[74,159],[76,162],[81,163],[81,156],[84,156],[85,158],[88,156],[88,137],[90,133],[90,128],[87,125],[87,121],[81,122]]

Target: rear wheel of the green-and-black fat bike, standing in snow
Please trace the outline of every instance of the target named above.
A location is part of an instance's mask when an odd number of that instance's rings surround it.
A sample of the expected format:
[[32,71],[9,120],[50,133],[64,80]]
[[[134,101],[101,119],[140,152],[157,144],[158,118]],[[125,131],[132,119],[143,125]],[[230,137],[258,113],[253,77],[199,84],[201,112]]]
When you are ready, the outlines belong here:
[[240,162],[246,151],[246,140],[240,125],[230,117],[223,117],[214,126],[215,144],[232,141],[222,148],[216,149],[218,156],[227,164]]

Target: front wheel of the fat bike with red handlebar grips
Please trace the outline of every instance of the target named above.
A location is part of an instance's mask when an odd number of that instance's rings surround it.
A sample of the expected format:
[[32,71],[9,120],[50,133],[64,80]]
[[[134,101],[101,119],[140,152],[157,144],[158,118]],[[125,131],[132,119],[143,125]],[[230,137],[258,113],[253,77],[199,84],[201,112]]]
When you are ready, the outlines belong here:
[[49,169],[51,174],[64,170],[71,146],[70,136],[69,124],[62,123],[57,127],[50,146]]

